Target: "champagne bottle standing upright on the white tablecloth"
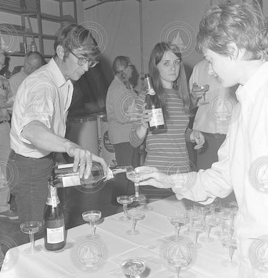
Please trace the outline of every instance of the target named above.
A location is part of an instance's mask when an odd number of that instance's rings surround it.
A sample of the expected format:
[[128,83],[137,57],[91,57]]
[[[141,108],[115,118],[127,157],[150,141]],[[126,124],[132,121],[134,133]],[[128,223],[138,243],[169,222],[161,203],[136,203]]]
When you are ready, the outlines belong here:
[[49,195],[44,206],[44,247],[50,251],[60,250],[66,244],[64,216],[57,188],[49,181]]

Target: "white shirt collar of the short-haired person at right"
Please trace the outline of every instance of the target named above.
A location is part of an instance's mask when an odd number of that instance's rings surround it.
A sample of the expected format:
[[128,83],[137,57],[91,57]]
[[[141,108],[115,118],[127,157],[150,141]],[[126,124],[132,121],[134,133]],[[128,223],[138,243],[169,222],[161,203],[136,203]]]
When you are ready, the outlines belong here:
[[253,102],[260,91],[263,83],[267,82],[268,62],[263,63],[258,70],[246,81],[244,85],[237,88],[236,96],[240,102]]

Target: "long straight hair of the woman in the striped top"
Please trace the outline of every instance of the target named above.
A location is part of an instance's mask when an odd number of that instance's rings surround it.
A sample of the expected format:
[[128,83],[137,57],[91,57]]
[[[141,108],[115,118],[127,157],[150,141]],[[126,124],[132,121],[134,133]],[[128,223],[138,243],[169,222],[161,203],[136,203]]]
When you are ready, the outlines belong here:
[[[165,90],[163,90],[164,88],[157,67],[158,63],[160,63],[160,60],[162,60],[162,57],[167,51],[172,51],[181,60],[181,51],[179,47],[176,46],[176,44],[171,44],[170,42],[158,42],[158,44],[156,44],[156,46],[151,51],[149,60],[149,74],[153,82],[153,88],[156,90],[156,93],[160,98],[163,113],[168,119],[169,114],[167,111],[167,96],[165,94]],[[183,63],[181,63],[178,79],[174,81],[173,87],[178,92],[178,96],[183,100],[183,108],[185,113],[190,115],[191,99],[188,91],[188,84]]]

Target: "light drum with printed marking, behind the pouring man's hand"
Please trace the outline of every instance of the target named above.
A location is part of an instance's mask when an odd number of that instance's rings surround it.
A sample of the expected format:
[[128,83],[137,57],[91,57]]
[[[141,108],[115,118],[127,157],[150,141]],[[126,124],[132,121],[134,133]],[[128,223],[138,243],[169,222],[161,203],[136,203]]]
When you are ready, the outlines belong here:
[[116,165],[115,148],[111,144],[108,136],[108,122],[105,114],[97,115],[98,137],[99,137],[99,156],[101,156],[108,165]]

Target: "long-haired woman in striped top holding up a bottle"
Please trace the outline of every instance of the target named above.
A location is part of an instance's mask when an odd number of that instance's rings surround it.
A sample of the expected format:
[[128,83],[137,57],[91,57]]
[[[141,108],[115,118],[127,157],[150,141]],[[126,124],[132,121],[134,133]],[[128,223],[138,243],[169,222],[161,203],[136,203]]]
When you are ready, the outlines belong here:
[[[190,95],[180,49],[168,42],[156,44],[149,59],[149,74],[162,104],[166,126],[159,131],[149,131],[148,121],[151,115],[150,111],[144,111],[142,123],[139,121],[133,124],[131,145],[138,147],[146,139],[144,165],[154,166],[161,172],[170,174],[189,172],[186,141],[196,142],[195,149],[199,149],[204,140],[200,131],[188,128]],[[141,109],[140,113],[144,109],[144,97],[141,101],[140,106],[137,104]]]

